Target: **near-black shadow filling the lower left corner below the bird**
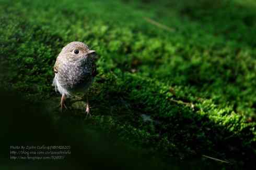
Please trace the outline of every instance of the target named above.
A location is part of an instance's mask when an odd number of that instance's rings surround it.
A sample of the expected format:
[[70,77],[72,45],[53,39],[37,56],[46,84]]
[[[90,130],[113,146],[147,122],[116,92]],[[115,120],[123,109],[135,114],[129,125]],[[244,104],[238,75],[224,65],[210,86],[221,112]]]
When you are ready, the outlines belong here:
[[[54,118],[46,106],[35,104],[15,91],[1,90],[1,169],[214,169],[220,165],[201,159],[168,159],[168,163],[108,136],[90,120],[71,116]],[[63,160],[11,160],[10,146],[71,146]],[[157,155],[155,153],[154,155]],[[31,156],[31,155],[30,155]],[[211,168],[214,165],[214,168]],[[191,167],[192,166],[192,167]]]

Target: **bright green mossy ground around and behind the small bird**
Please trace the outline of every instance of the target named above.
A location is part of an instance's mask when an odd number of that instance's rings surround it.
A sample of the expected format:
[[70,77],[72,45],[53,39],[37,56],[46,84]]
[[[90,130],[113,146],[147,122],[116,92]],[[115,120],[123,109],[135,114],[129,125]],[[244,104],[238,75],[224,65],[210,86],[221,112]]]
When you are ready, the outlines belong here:
[[[24,112],[35,107],[28,121],[8,109],[9,100],[3,109],[3,122],[9,123],[2,129],[24,128],[21,132],[29,136],[34,132],[17,119],[29,124],[43,122],[32,115],[47,115],[45,122],[54,120],[51,127],[69,122],[64,133],[97,128],[107,141],[114,134],[163,164],[174,159],[176,168],[183,162],[195,168],[255,166],[255,1],[1,0],[0,14],[1,86],[12,91],[3,94],[22,96],[29,103],[21,104]],[[63,114],[55,108],[60,95],[51,86],[52,68],[72,41],[88,44],[100,56],[89,90],[89,121],[79,106]],[[152,121],[143,121],[143,115]],[[3,134],[6,143],[22,138]]]

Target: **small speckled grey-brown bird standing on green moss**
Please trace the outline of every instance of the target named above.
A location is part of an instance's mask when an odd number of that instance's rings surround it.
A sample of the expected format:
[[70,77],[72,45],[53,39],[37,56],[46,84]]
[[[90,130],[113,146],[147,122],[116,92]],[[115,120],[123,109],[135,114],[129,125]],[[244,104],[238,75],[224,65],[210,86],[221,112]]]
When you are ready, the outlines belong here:
[[[71,42],[62,48],[57,56],[53,70],[55,73],[52,85],[62,94],[61,110],[65,105],[66,97],[77,92],[87,93],[96,71],[96,51],[90,50],[82,42]],[[86,113],[90,115],[88,96],[86,95]]]

